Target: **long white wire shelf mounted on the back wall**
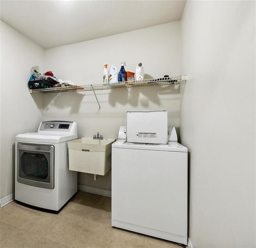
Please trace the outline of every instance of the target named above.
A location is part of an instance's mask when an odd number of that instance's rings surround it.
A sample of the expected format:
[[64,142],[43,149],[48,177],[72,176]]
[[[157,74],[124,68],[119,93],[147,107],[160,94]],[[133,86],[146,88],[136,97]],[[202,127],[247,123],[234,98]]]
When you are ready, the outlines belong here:
[[120,87],[134,87],[134,86],[145,86],[145,85],[179,85],[182,81],[186,80],[186,76],[176,76],[176,77],[162,77],[156,79],[143,79],[137,81],[124,81],[118,83],[100,83],[100,84],[86,84],[86,85],[70,85],[65,87],[55,87],[55,88],[44,88],[44,89],[29,89],[30,93],[33,92],[43,92],[43,93],[53,93],[53,92],[65,92],[65,91],[94,91],[94,90],[104,90],[113,89]]

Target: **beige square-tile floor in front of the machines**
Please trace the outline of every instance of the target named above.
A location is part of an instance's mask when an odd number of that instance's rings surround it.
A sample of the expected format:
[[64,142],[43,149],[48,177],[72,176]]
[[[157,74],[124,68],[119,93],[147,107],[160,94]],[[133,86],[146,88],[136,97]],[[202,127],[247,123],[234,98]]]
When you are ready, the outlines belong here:
[[111,198],[78,191],[59,214],[10,202],[0,209],[1,248],[181,248],[111,227]]

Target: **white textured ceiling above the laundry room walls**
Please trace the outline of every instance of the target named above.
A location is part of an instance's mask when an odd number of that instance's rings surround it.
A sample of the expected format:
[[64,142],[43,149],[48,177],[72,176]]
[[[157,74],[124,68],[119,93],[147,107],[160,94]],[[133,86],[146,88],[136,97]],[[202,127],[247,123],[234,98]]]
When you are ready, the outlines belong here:
[[3,22],[44,49],[180,20],[186,1],[1,0]]

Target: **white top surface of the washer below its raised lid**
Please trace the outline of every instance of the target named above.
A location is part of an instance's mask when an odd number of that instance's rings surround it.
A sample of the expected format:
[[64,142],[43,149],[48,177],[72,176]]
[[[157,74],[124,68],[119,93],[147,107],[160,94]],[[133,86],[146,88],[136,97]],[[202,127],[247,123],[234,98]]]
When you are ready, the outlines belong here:
[[112,148],[123,149],[138,149],[138,150],[152,150],[152,151],[174,151],[187,153],[188,148],[184,147],[178,142],[169,142],[168,144],[144,144],[144,143],[130,143],[123,139],[118,139],[112,144]]

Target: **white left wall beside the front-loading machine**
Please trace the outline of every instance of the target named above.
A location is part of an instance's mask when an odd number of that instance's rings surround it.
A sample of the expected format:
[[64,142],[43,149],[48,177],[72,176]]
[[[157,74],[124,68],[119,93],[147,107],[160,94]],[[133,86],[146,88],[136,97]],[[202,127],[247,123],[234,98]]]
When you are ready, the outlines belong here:
[[42,95],[30,95],[33,65],[43,67],[44,50],[1,21],[0,199],[14,192],[14,142],[42,121]]

